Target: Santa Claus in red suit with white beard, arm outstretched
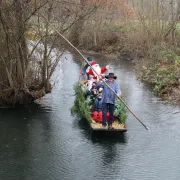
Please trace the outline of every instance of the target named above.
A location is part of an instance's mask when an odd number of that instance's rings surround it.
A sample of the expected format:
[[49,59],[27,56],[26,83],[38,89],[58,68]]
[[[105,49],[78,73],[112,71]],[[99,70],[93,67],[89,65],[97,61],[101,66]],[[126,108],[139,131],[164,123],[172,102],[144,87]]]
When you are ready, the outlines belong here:
[[91,67],[88,67],[88,68],[86,69],[86,74],[92,75],[92,76],[93,76],[93,79],[94,79],[94,80],[97,80],[97,81],[99,80],[99,77],[101,77],[101,75],[102,75],[103,73],[105,73],[105,72],[109,69],[109,65],[101,68],[101,67],[99,66],[99,64],[97,64],[96,61],[93,61],[93,62],[91,63],[91,66],[92,66],[92,68],[91,68]]

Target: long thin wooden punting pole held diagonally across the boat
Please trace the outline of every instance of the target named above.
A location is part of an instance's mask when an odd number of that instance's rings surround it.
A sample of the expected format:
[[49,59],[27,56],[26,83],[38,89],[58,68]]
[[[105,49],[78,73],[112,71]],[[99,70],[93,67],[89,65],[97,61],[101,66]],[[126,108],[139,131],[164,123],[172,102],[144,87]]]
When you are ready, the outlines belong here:
[[[46,20],[47,21],[47,20]],[[49,24],[50,25],[50,24]],[[82,53],[73,45],[71,42],[69,42],[54,26],[50,25],[57,33],[60,35],[70,46],[72,46],[80,55],[81,57],[86,61],[86,63],[93,69],[91,64],[86,60],[86,58],[82,55]],[[93,69],[93,71],[96,73],[96,75],[99,77],[97,72]],[[132,113],[132,115],[147,129],[149,128],[131,111],[131,109],[128,107],[128,105],[124,102],[124,100],[118,96],[118,94],[105,82],[105,80],[102,79],[102,81],[105,83],[105,85],[116,95],[116,97],[126,106],[126,108]]]

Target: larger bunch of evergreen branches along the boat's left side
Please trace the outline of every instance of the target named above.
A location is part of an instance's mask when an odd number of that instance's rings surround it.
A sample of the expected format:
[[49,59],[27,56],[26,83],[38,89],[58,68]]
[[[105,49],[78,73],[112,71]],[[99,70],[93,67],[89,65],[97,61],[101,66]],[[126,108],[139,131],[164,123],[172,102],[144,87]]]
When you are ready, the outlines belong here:
[[78,116],[87,119],[89,122],[92,121],[90,114],[90,97],[85,98],[85,86],[76,84],[74,86],[76,93],[76,99],[74,101],[74,106],[71,108],[72,113],[76,113]]

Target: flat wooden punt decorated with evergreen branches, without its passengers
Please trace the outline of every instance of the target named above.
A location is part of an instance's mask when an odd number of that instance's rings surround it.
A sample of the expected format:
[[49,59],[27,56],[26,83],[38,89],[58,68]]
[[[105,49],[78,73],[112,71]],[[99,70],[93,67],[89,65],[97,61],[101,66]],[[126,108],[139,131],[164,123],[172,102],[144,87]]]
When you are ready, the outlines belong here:
[[126,119],[127,112],[125,106],[120,102],[116,101],[115,116],[112,123],[111,129],[102,127],[101,121],[94,119],[93,110],[91,109],[90,102],[91,98],[86,96],[87,86],[84,82],[78,83],[74,86],[76,98],[74,106],[72,107],[72,113],[77,114],[79,117],[86,119],[89,127],[94,132],[126,132]]

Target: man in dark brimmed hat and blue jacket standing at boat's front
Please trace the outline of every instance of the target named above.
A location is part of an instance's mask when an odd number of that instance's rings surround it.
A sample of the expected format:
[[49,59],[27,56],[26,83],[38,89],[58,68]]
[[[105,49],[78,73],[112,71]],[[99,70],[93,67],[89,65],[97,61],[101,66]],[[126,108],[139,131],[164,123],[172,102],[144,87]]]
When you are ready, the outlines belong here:
[[[108,76],[105,76],[107,80],[105,81],[120,97],[121,90],[115,79],[117,76],[114,73],[109,73]],[[108,128],[112,129],[112,122],[114,120],[114,110],[116,103],[116,95],[104,84],[103,93],[102,93],[102,127],[107,126],[106,114],[109,111],[110,117],[108,121]]]

